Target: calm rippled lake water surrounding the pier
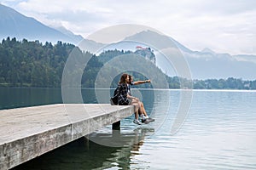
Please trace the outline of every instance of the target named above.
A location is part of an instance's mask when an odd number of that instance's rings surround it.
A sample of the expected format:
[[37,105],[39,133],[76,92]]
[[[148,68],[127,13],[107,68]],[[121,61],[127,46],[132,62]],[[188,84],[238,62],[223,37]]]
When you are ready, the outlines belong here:
[[[93,91],[82,90],[84,103],[97,103]],[[256,169],[256,91],[193,91],[175,134],[181,91],[138,92],[155,122],[139,126],[125,118],[120,133],[131,133],[130,143],[99,144],[113,135],[104,127],[15,169]],[[61,103],[59,88],[0,88],[0,94],[0,109]]]

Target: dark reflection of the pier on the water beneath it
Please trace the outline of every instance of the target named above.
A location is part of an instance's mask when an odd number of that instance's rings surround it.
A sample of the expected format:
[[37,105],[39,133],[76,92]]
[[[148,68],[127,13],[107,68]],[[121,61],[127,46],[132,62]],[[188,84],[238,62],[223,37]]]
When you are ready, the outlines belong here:
[[[27,161],[15,167],[15,170],[108,169],[111,167],[131,169],[131,157],[137,155],[144,138],[152,133],[154,128],[146,127],[138,127],[130,133],[120,133],[117,130],[113,133],[90,133],[86,138],[80,138],[44,156]],[[98,139],[105,142],[98,143]],[[104,145],[116,139],[119,139],[119,147]],[[124,145],[121,146],[121,144]]]

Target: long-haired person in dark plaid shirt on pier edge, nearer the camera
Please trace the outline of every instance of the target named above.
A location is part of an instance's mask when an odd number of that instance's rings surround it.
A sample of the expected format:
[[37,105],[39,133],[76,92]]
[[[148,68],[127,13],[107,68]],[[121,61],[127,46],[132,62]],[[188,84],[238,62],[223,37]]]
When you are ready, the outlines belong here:
[[128,94],[128,83],[129,83],[129,75],[123,74],[120,77],[119,81],[119,98],[118,98],[118,105],[134,105],[134,111],[135,111],[135,119],[134,123],[141,125],[142,122],[139,122],[138,120],[138,111],[140,110],[140,103],[137,100],[137,98],[131,96]]

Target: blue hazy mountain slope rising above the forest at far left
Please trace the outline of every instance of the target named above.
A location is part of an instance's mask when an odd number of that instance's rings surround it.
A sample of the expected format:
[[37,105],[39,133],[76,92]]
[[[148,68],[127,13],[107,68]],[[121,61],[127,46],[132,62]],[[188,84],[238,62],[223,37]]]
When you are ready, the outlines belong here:
[[45,26],[31,17],[15,11],[13,8],[0,4],[0,38],[16,37],[19,40],[39,40],[40,42],[71,42],[78,43],[83,37],[73,35],[70,31],[57,31]]

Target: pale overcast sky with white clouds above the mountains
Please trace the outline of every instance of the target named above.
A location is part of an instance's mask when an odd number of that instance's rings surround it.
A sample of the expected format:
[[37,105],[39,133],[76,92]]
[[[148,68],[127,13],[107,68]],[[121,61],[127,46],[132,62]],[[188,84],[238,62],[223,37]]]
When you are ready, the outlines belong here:
[[[150,26],[191,50],[256,54],[255,0],[0,0],[83,37],[108,26]],[[0,16],[1,17],[1,16]]]

